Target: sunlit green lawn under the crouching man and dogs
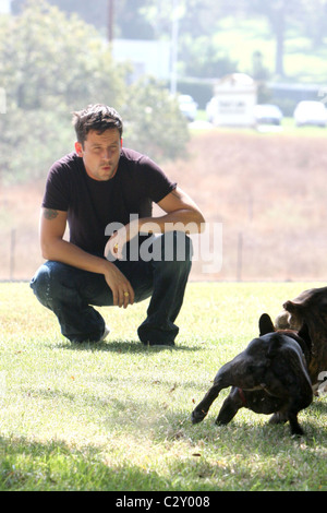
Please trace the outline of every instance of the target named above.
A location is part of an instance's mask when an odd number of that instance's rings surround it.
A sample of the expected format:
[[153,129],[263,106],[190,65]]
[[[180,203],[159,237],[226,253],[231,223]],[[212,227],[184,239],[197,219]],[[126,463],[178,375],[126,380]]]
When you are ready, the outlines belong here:
[[177,348],[145,348],[147,302],[100,309],[108,341],[73,346],[28,284],[0,284],[0,490],[327,490],[326,398],[268,426],[242,409],[227,427],[190,414],[257,320],[314,284],[190,283]]

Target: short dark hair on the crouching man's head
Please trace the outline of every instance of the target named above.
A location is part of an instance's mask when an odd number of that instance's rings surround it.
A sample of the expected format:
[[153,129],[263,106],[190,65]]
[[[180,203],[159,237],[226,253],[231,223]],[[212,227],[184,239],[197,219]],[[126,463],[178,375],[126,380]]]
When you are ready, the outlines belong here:
[[82,145],[90,130],[101,134],[106,130],[117,129],[120,136],[123,132],[120,115],[112,107],[102,104],[88,105],[85,109],[73,112],[73,126],[77,141]]

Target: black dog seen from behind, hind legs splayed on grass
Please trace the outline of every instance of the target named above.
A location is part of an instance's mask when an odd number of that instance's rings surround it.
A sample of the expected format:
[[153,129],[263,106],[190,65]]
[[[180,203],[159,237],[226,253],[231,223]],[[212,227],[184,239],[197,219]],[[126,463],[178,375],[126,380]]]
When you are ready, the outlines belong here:
[[275,414],[270,423],[289,420],[292,434],[303,434],[298,413],[313,401],[307,373],[308,332],[275,332],[270,317],[259,319],[259,337],[226,363],[216,374],[214,385],[192,413],[192,422],[201,422],[222,389],[232,386],[216,423],[226,425],[242,407],[257,414]]

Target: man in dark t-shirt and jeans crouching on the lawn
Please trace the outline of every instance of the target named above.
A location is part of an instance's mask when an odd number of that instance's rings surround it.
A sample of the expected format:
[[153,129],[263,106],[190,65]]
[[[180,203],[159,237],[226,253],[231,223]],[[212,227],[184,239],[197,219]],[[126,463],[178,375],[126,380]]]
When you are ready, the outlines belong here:
[[[191,271],[186,232],[199,232],[204,217],[153,160],[122,147],[122,120],[113,108],[88,106],[73,122],[75,152],[56,162],[47,178],[40,215],[47,262],[31,286],[61,333],[77,343],[109,333],[93,306],[126,308],[150,297],[138,337],[173,346]],[[162,216],[152,217],[153,202]]]

